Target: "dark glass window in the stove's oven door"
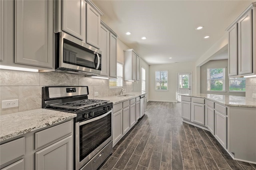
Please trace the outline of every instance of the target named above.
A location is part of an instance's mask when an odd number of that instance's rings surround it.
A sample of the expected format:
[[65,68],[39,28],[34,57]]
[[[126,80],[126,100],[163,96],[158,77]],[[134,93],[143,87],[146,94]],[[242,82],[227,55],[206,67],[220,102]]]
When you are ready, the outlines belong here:
[[111,113],[80,126],[80,161],[111,137]]

